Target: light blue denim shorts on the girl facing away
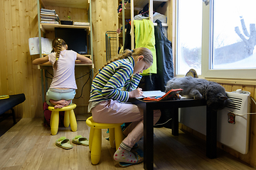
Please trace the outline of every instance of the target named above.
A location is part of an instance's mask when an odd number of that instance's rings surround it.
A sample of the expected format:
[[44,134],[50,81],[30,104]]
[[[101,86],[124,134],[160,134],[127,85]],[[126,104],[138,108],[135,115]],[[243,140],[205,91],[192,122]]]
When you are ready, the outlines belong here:
[[48,104],[48,106],[53,106],[50,103],[50,99],[54,101],[60,101],[63,99],[68,101],[68,100],[73,100],[74,97],[75,97],[75,89],[61,90],[61,89],[50,88],[46,92],[46,103]]

